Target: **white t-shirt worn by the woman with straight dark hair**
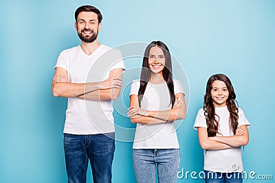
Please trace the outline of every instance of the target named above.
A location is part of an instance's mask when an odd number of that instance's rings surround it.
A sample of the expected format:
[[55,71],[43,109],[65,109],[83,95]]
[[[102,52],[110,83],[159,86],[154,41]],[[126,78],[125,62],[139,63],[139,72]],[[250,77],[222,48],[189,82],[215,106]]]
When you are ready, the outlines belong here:
[[[173,80],[174,93],[184,93],[179,81]],[[130,95],[138,95],[140,80],[131,84]],[[144,110],[170,110],[170,94],[168,86],[151,84],[148,82],[140,108]],[[143,125],[137,123],[133,149],[178,149],[177,133],[174,122],[157,125]]]

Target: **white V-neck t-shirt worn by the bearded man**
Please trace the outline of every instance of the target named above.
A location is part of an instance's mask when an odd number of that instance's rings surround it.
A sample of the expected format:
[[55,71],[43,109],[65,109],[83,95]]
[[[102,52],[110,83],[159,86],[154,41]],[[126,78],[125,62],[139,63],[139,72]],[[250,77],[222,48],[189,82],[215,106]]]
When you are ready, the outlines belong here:
[[[87,56],[80,45],[61,52],[56,67],[67,70],[72,83],[100,82],[109,78],[113,69],[125,69],[118,49],[100,45]],[[114,132],[111,100],[88,101],[77,97],[68,98],[64,133],[102,134]]]

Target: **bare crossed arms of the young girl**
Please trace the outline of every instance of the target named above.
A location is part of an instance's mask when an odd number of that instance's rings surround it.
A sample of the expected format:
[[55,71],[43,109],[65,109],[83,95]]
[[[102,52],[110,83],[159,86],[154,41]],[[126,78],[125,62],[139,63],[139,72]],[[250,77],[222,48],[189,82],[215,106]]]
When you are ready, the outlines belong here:
[[249,134],[247,125],[241,125],[236,129],[234,136],[208,137],[206,127],[198,127],[199,144],[202,149],[221,150],[232,147],[248,145]]

